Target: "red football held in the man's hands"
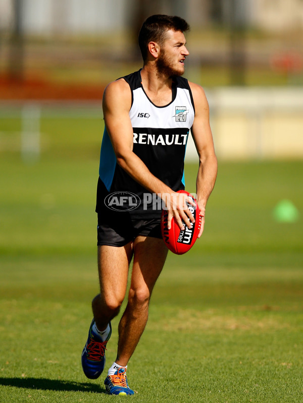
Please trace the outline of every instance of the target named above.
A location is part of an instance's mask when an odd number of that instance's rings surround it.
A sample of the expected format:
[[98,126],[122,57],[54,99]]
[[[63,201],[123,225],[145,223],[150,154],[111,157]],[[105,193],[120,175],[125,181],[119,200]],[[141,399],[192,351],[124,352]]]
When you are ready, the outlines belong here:
[[166,243],[168,249],[177,255],[183,255],[183,253],[188,252],[189,249],[195,243],[199,230],[201,228],[201,216],[200,210],[198,208],[196,200],[188,193],[186,190],[178,190],[180,193],[186,193],[195,203],[195,206],[187,204],[191,214],[193,215],[195,222],[192,228],[187,228],[184,224],[185,229],[181,231],[175,217],[172,219],[171,229],[167,228],[167,218],[168,211],[163,209],[161,215],[161,232],[164,242]]

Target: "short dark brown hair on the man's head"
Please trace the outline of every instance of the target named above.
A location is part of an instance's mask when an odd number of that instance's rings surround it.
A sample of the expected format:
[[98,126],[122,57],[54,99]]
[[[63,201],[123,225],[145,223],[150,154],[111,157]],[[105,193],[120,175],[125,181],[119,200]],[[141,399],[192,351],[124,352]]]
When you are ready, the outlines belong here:
[[142,54],[143,61],[147,57],[147,47],[149,42],[157,42],[160,46],[163,45],[167,38],[167,31],[186,32],[189,31],[189,25],[183,18],[164,14],[151,15],[146,18],[140,29],[138,42]]

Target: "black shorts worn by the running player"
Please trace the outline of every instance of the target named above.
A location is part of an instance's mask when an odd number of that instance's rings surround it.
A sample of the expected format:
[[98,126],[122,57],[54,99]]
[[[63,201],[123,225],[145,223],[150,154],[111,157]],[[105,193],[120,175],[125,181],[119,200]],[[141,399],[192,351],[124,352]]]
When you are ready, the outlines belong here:
[[121,247],[137,236],[162,238],[161,218],[140,220],[127,212],[110,212],[106,216],[98,213],[97,245]]

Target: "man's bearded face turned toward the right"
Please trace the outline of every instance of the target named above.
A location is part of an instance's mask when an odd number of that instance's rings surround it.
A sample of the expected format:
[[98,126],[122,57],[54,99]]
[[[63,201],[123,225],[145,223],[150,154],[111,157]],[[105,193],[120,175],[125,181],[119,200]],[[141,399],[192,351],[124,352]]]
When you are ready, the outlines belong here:
[[156,61],[159,75],[182,75],[184,73],[184,60],[189,55],[185,47],[186,41],[183,32],[167,31],[167,39],[161,47],[160,55]]

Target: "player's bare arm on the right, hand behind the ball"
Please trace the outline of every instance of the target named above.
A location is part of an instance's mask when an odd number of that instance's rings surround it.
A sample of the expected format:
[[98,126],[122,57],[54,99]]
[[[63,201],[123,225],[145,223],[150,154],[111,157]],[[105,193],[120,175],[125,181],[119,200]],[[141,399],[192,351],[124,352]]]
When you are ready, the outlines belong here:
[[200,209],[202,225],[198,237],[203,233],[205,223],[205,208],[207,200],[215,186],[217,177],[217,157],[215,154],[213,135],[210,127],[209,104],[202,87],[189,83],[195,116],[191,128],[192,137],[199,156],[199,168],[196,179],[197,203]]

